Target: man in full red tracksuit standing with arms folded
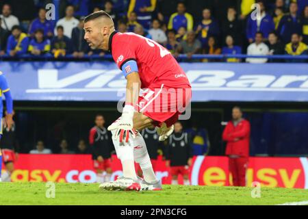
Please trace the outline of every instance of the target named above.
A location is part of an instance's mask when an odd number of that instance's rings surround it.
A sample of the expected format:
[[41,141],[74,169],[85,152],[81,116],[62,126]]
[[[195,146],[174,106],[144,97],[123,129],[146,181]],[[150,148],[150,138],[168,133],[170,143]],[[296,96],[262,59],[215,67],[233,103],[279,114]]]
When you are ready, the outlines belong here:
[[229,121],[222,133],[222,140],[227,142],[226,155],[229,157],[229,171],[234,186],[246,185],[251,124],[242,118],[240,107],[233,107],[233,120]]

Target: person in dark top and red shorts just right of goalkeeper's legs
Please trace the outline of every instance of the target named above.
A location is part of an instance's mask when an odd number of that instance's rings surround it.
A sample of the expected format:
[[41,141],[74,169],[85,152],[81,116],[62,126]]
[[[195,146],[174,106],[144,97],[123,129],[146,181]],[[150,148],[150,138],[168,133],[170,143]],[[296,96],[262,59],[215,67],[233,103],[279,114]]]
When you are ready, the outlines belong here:
[[189,167],[192,166],[192,147],[188,133],[182,131],[182,124],[175,123],[175,132],[169,138],[166,147],[166,166],[170,166],[172,185],[178,184],[179,175],[183,176],[184,185],[190,185]]

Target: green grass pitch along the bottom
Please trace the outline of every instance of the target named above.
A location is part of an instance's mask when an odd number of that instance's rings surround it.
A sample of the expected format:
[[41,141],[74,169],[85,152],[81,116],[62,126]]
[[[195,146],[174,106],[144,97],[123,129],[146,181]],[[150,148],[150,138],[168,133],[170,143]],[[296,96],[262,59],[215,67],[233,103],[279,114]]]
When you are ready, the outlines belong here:
[[277,205],[308,201],[308,190],[164,185],[162,191],[102,191],[99,185],[55,183],[55,198],[47,198],[46,183],[0,183],[0,205]]

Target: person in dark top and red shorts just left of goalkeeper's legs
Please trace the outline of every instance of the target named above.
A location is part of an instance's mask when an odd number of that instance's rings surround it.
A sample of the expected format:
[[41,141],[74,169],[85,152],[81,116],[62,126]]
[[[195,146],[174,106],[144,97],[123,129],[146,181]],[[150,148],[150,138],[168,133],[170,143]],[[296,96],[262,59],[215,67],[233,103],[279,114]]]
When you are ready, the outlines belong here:
[[94,169],[97,170],[97,182],[109,182],[112,175],[111,153],[112,142],[104,127],[105,118],[101,114],[95,117],[95,126],[90,130],[89,143],[94,160]]

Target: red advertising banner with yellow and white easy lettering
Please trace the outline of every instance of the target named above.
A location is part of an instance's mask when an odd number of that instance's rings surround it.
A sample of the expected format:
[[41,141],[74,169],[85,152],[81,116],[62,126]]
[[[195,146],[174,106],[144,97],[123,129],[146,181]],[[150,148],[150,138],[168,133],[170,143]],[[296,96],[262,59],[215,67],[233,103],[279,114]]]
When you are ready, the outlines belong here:
[[[137,165],[137,164],[136,164]],[[12,181],[57,181],[94,183],[97,175],[91,155],[19,155]],[[112,157],[112,180],[122,175],[120,160]],[[155,167],[162,182],[171,182],[170,169],[159,157]],[[198,156],[190,168],[192,185],[231,185],[228,158]],[[181,183],[181,179],[179,182]],[[246,173],[246,185],[254,181],[264,187],[308,189],[307,157],[251,157]]]

